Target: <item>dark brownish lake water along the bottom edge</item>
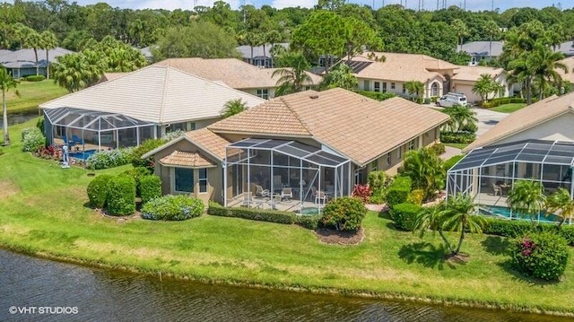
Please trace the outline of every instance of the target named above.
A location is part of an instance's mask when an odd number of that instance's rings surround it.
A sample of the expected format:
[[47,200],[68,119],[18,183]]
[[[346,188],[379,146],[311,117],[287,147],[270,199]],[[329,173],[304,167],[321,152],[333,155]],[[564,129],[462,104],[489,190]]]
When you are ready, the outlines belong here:
[[500,310],[160,281],[0,249],[0,321],[571,320]]

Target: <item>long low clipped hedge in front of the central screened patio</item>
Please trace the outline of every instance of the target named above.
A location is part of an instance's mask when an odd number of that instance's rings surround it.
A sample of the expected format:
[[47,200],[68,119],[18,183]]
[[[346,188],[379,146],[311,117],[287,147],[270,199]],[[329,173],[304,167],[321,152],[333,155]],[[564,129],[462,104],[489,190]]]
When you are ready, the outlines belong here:
[[284,224],[296,223],[309,230],[316,230],[320,216],[298,215],[278,210],[254,209],[245,207],[223,207],[214,202],[209,203],[207,213],[214,216],[237,217],[259,222],[277,222]]

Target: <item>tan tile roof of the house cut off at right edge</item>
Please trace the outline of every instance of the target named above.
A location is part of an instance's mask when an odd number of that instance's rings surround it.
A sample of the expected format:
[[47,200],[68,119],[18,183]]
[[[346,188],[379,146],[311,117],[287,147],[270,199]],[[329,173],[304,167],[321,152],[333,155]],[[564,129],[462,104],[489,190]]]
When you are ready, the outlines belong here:
[[528,128],[568,112],[574,112],[574,92],[561,97],[552,95],[524,109],[518,109],[508,117],[503,118],[499,124],[493,126],[472,144],[468,144],[463,149],[463,152],[469,152],[481,146],[496,144],[501,139],[516,135]]

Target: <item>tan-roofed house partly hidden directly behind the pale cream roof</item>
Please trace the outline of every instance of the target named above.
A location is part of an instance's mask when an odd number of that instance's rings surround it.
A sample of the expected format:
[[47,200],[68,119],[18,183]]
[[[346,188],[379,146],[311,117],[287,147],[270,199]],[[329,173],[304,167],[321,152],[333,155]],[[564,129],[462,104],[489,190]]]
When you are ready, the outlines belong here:
[[[278,87],[279,77],[273,77],[278,68],[259,68],[235,58],[169,58],[155,65],[168,65],[213,82],[226,83],[231,88],[265,100],[273,99]],[[321,83],[321,76],[306,73],[312,80],[306,84],[307,89]]]

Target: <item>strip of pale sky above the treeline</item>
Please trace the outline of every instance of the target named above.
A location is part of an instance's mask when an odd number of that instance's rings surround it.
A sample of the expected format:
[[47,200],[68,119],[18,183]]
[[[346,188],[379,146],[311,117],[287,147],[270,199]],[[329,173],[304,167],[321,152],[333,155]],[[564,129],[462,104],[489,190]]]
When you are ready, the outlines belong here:
[[[1,1],[1,0],[0,0]],[[74,0],[70,0],[72,2]],[[131,9],[193,9],[194,3],[197,5],[212,6],[212,0],[108,0],[108,1],[98,1],[98,0],[75,0],[78,4],[97,4],[99,2],[106,2],[113,7],[120,8],[131,8]],[[301,6],[301,7],[312,7],[317,4],[317,0],[224,0],[231,5],[233,9],[238,9],[242,4],[252,4],[254,6],[261,7],[263,4],[271,5],[275,8],[281,9],[290,6]],[[437,8],[437,2],[439,5],[445,0],[348,0],[351,4],[367,4],[371,7],[374,6],[375,9],[387,4],[403,4],[409,9],[417,10],[419,8],[419,1],[427,10],[434,10]],[[13,3],[13,0],[8,0],[8,3]],[[513,7],[533,7],[533,8],[544,8],[546,6],[559,6],[562,9],[574,8],[574,3],[572,0],[446,0],[447,6],[458,5],[459,7],[464,7],[466,10],[479,11],[479,10],[491,10],[492,6],[494,9],[500,9],[500,11],[505,11],[506,9]]]

